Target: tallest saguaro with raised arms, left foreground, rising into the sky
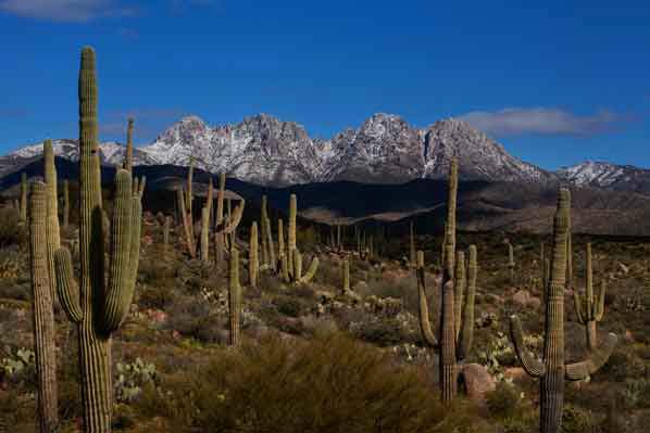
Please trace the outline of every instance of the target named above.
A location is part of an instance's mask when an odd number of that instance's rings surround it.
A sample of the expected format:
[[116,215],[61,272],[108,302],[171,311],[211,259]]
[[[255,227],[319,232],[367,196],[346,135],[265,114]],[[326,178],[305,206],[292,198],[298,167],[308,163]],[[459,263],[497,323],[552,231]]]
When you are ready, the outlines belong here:
[[[55,253],[59,297],[77,326],[84,431],[111,431],[111,334],[126,318],[136,284],[140,254],[141,191],[134,194],[130,174],[115,175],[115,201],[104,279],[104,226],[97,140],[95,51],[84,48],[79,72],[79,282],[70,252]],[[78,288],[78,290],[77,290]]]

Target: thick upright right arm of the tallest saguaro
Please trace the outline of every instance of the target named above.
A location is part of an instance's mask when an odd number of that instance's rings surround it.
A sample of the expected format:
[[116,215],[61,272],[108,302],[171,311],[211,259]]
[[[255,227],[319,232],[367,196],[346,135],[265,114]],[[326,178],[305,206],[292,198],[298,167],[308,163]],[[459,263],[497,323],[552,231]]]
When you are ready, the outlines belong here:
[[[111,225],[111,251],[109,283],[105,301],[101,305],[101,315],[97,318],[101,330],[108,335],[122,322],[128,314],[130,304],[130,283],[134,258],[132,257],[130,225],[134,222],[132,179],[127,170],[117,171],[115,177],[116,199],[113,207],[113,224]],[[136,191],[137,194],[137,191]],[[137,270],[137,263],[136,263]],[[133,292],[130,293],[133,295]]]

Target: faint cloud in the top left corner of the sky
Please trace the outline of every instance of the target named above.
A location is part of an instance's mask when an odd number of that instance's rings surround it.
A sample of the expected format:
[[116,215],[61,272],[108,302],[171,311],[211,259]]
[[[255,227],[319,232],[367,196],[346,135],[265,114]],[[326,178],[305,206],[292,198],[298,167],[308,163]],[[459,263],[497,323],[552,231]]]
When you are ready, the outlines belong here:
[[136,13],[134,8],[113,0],[0,0],[0,11],[28,18],[78,23]]

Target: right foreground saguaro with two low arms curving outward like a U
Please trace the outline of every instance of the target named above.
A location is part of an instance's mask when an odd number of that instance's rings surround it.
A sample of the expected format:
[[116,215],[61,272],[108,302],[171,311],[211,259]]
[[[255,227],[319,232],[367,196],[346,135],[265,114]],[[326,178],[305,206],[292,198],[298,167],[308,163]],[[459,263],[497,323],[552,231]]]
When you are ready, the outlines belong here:
[[561,189],[553,221],[551,279],[546,289],[546,323],[543,357],[535,358],[524,344],[522,324],[516,316],[510,320],[511,339],[526,372],[540,380],[540,432],[562,431],[564,380],[583,380],[597,371],[609,358],[616,344],[610,333],[605,343],[582,362],[564,364],[564,285],[566,283],[566,253],[570,233],[568,190]]

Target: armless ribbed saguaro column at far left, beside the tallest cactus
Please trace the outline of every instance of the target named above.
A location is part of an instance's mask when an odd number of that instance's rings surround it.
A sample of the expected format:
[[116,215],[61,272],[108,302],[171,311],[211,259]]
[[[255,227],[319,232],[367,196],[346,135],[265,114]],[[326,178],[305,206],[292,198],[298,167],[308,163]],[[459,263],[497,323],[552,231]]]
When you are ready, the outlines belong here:
[[57,397],[57,352],[54,347],[54,280],[49,225],[49,187],[32,183],[29,200],[29,269],[34,304],[34,342],[38,381],[40,432],[54,432],[59,423]]

